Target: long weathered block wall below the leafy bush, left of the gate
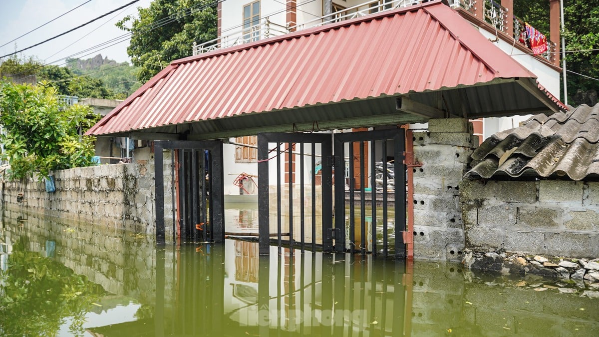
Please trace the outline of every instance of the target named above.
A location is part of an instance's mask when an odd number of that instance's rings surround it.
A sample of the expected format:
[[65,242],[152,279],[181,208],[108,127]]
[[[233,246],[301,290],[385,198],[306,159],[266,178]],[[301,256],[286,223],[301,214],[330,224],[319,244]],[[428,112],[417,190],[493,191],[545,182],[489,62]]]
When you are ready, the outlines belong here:
[[[145,160],[60,170],[54,174],[56,192],[46,192],[45,183],[35,178],[25,183],[4,182],[2,201],[31,212],[153,234],[153,175],[153,164]],[[23,193],[23,203],[17,201],[19,193]]]

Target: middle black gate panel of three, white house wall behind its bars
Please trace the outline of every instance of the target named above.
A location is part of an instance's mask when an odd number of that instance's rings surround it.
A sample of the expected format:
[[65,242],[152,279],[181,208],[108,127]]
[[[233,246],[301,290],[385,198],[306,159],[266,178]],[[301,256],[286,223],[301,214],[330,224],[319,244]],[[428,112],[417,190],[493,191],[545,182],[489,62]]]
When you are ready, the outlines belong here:
[[[283,146],[283,149],[282,149]],[[294,148],[295,151],[294,151]],[[298,148],[298,149],[297,149]],[[294,248],[298,241],[299,248],[304,251],[308,248],[323,251],[332,250],[333,226],[332,226],[332,173],[331,156],[332,140],[331,134],[304,134],[304,133],[261,133],[258,134],[258,231],[259,231],[259,254],[268,254],[270,248],[271,228],[276,229],[277,244],[279,252],[283,245],[282,237],[288,237],[285,243]],[[320,166],[316,162],[317,152],[320,152]],[[281,156],[286,155],[287,163],[282,166]],[[299,155],[295,160],[294,155]],[[305,158],[310,158],[310,161]],[[276,191],[270,191],[270,160],[276,160]],[[295,164],[299,164],[299,170]],[[305,166],[310,168],[308,178],[310,189],[306,189]],[[282,172],[288,186],[282,188]],[[320,174],[317,174],[317,170]],[[299,174],[298,182],[294,182],[296,171]],[[320,183],[317,186],[317,176]],[[275,187],[273,187],[274,189]],[[294,200],[294,193],[295,199]],[[286,195],[285,195],[286,194]],[[299,195],[298,195],[299,194]],[[270,195],[276,195],[276,224],[271,222]],[[299,198],[297,198],[299,197]],[[320,201],[317,199],[320,198]],[[307,202],[310,200],[310,202]],[[282,204],[286,202],[286,205]],[[283,212],[286,206],[286,213]],[[306,209],[309,210],[308,214]],[[297,213],[299,212],[299,214]],[[322,215],[322,224],[317,228],[317,213]],[[299,226],[294,226],[294,215],[297,217]],[[306,231],[305,219],[310,219],[310,228]],[[283,217],[288,217],[285,224],[286,233],[283,233]],[[298,229],[299,227],[299,229]],[[275,233],[273,233],[275,234]]]

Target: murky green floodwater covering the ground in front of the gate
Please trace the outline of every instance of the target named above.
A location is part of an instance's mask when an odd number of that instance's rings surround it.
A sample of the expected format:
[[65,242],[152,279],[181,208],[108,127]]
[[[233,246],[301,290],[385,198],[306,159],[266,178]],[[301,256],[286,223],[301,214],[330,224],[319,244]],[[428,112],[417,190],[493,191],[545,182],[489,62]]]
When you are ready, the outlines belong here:
[[[227,214],[251,230],[252,210]],[[599,299],[538,276],[276,248],[269,259],[240,240],[156,248],[8,210],[0,242],[2,336],[599,335]]]

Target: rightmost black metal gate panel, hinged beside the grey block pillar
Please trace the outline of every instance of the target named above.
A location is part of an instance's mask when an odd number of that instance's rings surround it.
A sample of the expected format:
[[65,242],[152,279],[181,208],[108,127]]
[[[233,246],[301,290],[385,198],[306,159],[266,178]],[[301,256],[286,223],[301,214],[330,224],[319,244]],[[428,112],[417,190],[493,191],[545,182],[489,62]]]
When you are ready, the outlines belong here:
[[[342,252],[349,248],[350,252],[355,252],[358,248],[362,254],[370,251],[373,255],[376,255],[379,252],[379,249],[377,249],[377,241],[379,241],[377,233],[380,233],[382,229],[382,254],[384,256],[388,255],[390,237],[388,218],[389,213],[391,213],[389,212],[389,203],[391,203],[395,236],[394,255],[395,257],[406,256],[406,245],[403,239],[406,231],[405,137],[405,131],[402,128],[334,135],[335,233],[337,234],[335,236],[335,251]],[[345,176],[346,170],[340,169],[345,167],[346,145],[348,145],[347,155],[349,157],[347,177]],[[354,145],[359,146],[357,154]],[[370,154],[365,153],[366,149],[370,149]],[[370,160],[366,157],[370,157]],[[360,168],[357,174],[354,169],[355,164],[359,164],[358,167]],[[370,167],[370,177],[365,174],[367,164]],[[358,176],[357,179],[356,176]],[[365,187],[367,179],[370,180],[369,191]],[[359,184],[359,188],[356,188],[356,184]],[[392,195],[389,195],[391,193]],[[358,194],[358,198],[356,198],[356,194]],[[393,200],[391,200],[391,196]],[[370,200],[367,200],[368,198]],[[356,230],[358,229],[356,228],[356,206],[359,212],[358,242],[356,242]],[[371,207],[370,245],[368,245],[367,238],[367,206]],[[349,208],[349,226],[346,224],[346,208]],[[382,216],[382,228],[378,228],[379,231],[377,231],[377,210],[380,209],[382,209],[382,214],[380,214]],[[346,230],[349,230],[349,247],[346,245]]]

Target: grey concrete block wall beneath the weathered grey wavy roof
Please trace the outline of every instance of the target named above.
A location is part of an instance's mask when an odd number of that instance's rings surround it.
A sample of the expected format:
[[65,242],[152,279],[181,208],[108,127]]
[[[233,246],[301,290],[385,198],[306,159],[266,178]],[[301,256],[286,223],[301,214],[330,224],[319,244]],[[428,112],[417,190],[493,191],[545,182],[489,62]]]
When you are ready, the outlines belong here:
[[468,248],[599,256],[599,182],[464,180],[459,194]]

